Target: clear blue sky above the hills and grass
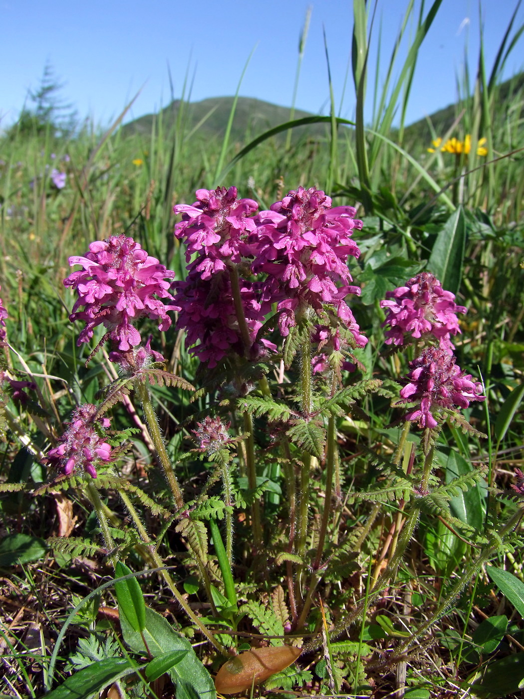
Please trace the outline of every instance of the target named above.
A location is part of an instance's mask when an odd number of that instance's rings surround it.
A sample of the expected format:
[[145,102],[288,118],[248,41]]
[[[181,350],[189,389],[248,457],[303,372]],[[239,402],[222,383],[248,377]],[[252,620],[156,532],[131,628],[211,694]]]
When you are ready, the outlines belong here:
[[[377,59],[381,24],[381,76],[388,67],[407,1],[378,0],[371,62]],[[417,7],[419,3],[415,0]],[[516,0],[482,3],[488,69],[516,4]],[[126,120],[166,106],[170,101],[168,64],[175,97],[181,96],[186,75],[192,101],[234,94],[252,50],[240,94],[289,106],[298,38],[310,5],[310,32],[296,106],[326,113],[329,89],[323,29],[338,110],[351,51],[351,0],[0,0],[0,128],[15,120],[28,89],[38,87],[46,62],[65,84],[64,100],[96,124],[108,124],[140,88]],[[427,12],[430,2],[425,5]],[[523,23],[521,6],[515,27]],[[524,69],[523,49],[521,38],[505,76]],[[443,0],[419,53],[408,123],[456,100],[456,80],[463,73],[465,52],[474,75],[479,4]],[[370,82],[368,90],[372,89]],[[341,115],[348,119],[354,115],[351,77]]]

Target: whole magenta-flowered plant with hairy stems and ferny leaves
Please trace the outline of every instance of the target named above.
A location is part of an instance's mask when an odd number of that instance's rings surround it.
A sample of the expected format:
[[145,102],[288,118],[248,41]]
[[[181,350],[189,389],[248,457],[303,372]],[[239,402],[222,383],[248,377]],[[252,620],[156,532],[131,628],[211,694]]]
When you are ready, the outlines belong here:
[[[316,593],[322,597],[323,586],[359,570],[361,549],[377,561],[386,559],[385,567],[377,563],[365,600],[355,593],[333,610],[335,635],[362,617],[395,575],[421,513],[466,527],[451,517],[449,499],[481,480],[483,471],[471,470],[446,483],[434,458],[446,421],[480,434],[460,411],[484,400],[482,387],[459,368],[451,343],[460,332],[457,314],[466,309],[428,272],[388,292],[381,303],[388,352],[409,344],[413,357],[407,376],[393,377],[398,390],[391,391],[379,377],[359,378],[364,368],[360,350],[368,340],[351,310],[351,298],[360,289],[352,283],[348,261],[360,255],[353,233],[363,226],[354,208],[333,207],[323,192],[298,187],[269,210],[258,211],[252,199],[238,199],[235,187],[219,187],[198,190],[195,203],[174,210],[182,215],[175,237],[186,245],[185,280],[173,281],[173,271],[125,235],[92,243],[85,256],[69,259],[82,267],[64,281],[78,294],[71,321],[85,323],[78,344],[90,342],[103,327],[92,356],[110,342],[108,359],[118,364],[120,377],[105,389],[99,405],[78,406],[47,463],[62,482],[83,484],[114,563],[136,549],[145,563],[163,566],[137,506],[159,517],[154,531],[161,535],[168,526],[163,520],[173,522],[187,546],[186,565],[208,598],[210,616],[198,617],[168,570],[162,575],[194,626],[222,654],[224,643],[235,645],[235,636],[217,640],[214,624],[234,632],[242,623],[246,630],[255,627],[275,637],[284,630],[312,633],[317,630]],[[140,333],[145,318],[161,331],[169,331],[175,321],[201,367],[194,417],[182,426],[195,446],[180,459],[184,469],[198,459],[206,461],[208,480],[189,500],[179,478],[182,468],[164,442],[151,388],[195,387],[170,372],[152,348],[152,336]],[[122,442],[131,430],[112,433],[104,416],[122,401],[136,421],[131,391],[143,406],[147,427],[136,424],[145,443],[154,446],[170,488],[170,498],[161,502],[157,493],[147,493],[147,484],[130,492],[129,482],[116,475],[126,449]],[[356,498],[374,503],[369,519],[351,526],[342,513],[340,485],[333,496],[334,482],[344,483],[337,426],[348,412],[365,417],[363,408],[377,393],[399,408],[414,407],[402,417],[397,447],[369,452],[376,482],[370,478],[367,489],[347,493],[349,503]],[[422,430],[415,442],[407,439],[412,424]],[[311,487],[313,476],[320,487]],[[101,488],[119,491],[136,526],[134,538],[128,535],[124,544],[115,543]],[[389,500],[398,503],[392,536],[381,552],[367,550],[367,535]],[[510,535],[513,524],[508,522],[504,535]],[[470,572],[493,547],[486,535]],[[460,586],[453,594],[458,592]],[[417,633],[421,629],[413,638]],[[314,637],[307,649],[320,643]]]

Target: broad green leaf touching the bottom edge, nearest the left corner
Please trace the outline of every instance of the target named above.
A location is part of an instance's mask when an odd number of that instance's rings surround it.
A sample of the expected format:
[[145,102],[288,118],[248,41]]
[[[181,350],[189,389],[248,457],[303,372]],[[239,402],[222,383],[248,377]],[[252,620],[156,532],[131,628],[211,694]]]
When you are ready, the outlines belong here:
[[68,677],[64,684],[45,695],[46,699],[89,699],[117,679],[141,670],[128,658],[105,658],[79,670]]

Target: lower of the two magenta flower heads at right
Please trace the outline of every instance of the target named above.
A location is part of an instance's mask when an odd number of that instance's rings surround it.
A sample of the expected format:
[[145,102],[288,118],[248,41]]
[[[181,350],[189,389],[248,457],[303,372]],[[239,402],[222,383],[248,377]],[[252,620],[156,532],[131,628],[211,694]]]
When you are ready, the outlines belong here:
[[472,381],[455,363],[455,357],[439,347],[426,347],[409,362],[409,383],[400,391],[401,403],[416,403],[406,420],[419,427],[437,427],[435,415],[442,410],[467,408],[471,401],[483,401],[482,384]]

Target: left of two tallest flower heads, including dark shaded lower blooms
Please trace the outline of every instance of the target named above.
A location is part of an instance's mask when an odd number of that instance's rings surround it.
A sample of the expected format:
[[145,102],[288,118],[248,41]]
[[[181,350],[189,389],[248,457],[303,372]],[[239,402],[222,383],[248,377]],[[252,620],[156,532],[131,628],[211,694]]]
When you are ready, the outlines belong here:
[[[256,229],[251,215],[258,204],[252,199],[237,199],[236,187],[198,189],[196,196],[194,204],[174,208],[182,214],[175,236],[186,240],[187,261],[196,254],[188,265],[186,280],[173,284],[175,302],[180,305],[177,327],[187,329],[187,345],[193,345],[190,352],[213,368],[230,352],[242,356],[246,350],[260,349],[256,333],[266,310],[259,301],[260,285],[238,275],[247,252],[246,238]],[[231,272],[238,279],[247,341],[235,307]]]

